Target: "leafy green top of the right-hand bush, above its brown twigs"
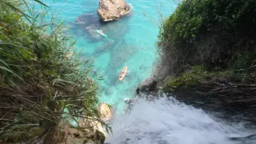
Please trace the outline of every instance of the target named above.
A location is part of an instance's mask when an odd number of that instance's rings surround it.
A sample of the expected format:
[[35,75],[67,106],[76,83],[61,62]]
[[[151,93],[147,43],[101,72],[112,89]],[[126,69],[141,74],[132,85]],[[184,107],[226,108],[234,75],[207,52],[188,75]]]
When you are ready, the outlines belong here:
[[223,0],[187,0],[178,5],[176,11],[168,17],[160,29],[160,43],[168,38],[178,42],[190,40],[199,33],[207,33],[212,27],[240,32],[244,28],[255,27],[256,1]]

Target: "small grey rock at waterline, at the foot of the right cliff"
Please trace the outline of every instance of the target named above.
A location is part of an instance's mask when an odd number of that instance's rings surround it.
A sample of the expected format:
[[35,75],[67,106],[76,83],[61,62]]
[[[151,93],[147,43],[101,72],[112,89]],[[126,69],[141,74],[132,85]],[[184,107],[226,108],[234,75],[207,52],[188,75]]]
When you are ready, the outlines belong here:
[[157,89],[157,81],[153,77],[148,77],[136,89],[136,94],[138,95],[141,92],[148,93],[148,92],[152,92],[156,89]]

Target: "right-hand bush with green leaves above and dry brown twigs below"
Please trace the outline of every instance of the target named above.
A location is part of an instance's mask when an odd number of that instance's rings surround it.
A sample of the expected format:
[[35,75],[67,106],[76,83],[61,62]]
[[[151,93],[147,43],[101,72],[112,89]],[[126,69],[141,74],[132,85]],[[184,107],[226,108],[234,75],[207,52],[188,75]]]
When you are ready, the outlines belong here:
[[244,51],[255,53],[256,1],[186,0],[160,28],[158,46],[168,71],[185,65],[226,69]]

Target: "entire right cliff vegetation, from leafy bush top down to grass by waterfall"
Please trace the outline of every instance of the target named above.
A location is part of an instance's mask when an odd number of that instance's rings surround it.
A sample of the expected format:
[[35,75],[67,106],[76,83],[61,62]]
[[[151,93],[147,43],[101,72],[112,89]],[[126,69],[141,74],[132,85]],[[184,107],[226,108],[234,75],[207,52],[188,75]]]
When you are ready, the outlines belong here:
[[182,1],[158,35],[160,77],[172,76],[164,90],[256,101],[255,9],[254,0]]

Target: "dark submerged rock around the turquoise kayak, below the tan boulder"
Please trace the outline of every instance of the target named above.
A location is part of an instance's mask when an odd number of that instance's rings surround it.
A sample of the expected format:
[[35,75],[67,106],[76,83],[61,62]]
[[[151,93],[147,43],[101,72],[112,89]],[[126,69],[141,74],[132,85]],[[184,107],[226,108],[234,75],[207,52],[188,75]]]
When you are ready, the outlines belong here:
[[[70,29],[75,35],[85,38],[89,43],[103,41],[103,45],[105,45],[109,41],[120,41],[129,32],[128,18],[122,19],[123,22],[102,22],[99,20],[98,14],[91,11],[78,16],[75,22],[70,22]],[[103,30],[108,38],[99,35],[96,30]],[[106,46],[103,45],[102,47],[105,48]]]

